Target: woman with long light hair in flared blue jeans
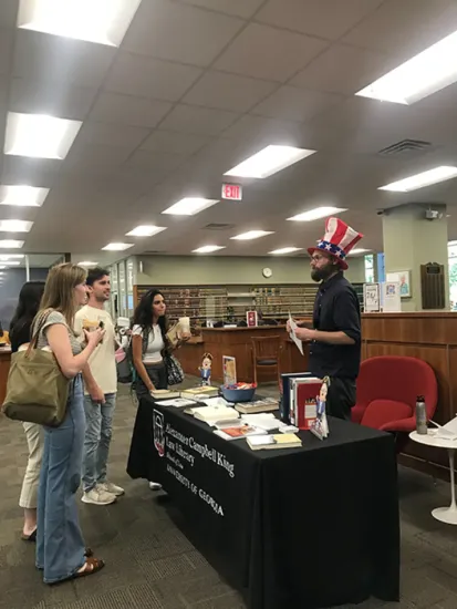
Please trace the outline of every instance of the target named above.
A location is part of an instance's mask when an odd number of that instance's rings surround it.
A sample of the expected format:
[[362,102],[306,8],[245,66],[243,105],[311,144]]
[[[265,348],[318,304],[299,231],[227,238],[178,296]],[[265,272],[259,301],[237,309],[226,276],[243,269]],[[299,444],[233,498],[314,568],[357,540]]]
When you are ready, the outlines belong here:
[[81,482],[85,415],[81,373],[103,338],[97,328],[86,332],[82,349],[73,333],[76,310],[86,300],[86,272],[71,264],[49,272],[41,309],[32,327],[38,349],[50,348],[62,373],[71,380],[66,414],[58,427],[44,429],[38,495],[37,567],[45,584],[95,574],[103,566],[84,547],[75,493]]

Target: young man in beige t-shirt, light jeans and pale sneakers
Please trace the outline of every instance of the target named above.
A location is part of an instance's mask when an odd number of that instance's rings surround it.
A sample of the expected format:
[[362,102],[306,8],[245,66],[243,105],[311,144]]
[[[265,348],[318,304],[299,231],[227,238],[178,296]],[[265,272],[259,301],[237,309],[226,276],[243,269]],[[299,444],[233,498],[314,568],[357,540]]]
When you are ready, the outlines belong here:
[[111,316],[105,311],[110,300],[110,273],[94,268],[87,275],[89,301],[75,316],[75,332],[83,337],[83,328],[103,327],[105,336],[89,359],[90,372],[84,374],[84,409],[86,430],[83,460],[82,500],[93,505],[108,505],[124,494],[106,478],[107,460],[116,404],[117,373],[115,360],[115,332]]

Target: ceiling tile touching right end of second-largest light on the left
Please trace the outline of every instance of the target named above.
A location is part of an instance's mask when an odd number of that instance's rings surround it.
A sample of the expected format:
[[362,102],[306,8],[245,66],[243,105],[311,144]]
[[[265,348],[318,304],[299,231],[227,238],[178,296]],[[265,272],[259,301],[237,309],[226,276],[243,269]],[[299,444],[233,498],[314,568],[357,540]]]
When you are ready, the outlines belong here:
[[77,134],[76,142],[134,149],[148,134],[147,128],[86,121]]

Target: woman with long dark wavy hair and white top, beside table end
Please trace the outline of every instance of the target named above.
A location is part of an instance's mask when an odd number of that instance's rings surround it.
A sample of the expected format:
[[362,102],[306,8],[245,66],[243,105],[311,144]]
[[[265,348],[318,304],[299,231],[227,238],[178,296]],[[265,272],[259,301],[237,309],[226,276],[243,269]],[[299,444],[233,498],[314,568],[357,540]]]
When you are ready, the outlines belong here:
[[144,295],[135,309],[132,328],[132,355],[136,370],[138,400],[155,389],[167,389],[164,355],[170,350],[165,317],[166,304],[160,290]]

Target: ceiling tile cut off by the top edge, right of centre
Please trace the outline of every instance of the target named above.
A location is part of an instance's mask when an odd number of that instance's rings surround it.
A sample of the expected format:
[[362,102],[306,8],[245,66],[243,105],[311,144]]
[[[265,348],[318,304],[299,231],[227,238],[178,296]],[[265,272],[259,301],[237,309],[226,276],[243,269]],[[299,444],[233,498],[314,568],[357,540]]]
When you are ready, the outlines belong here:
[[383,0],[269,0],[256,21],[336,40]]

